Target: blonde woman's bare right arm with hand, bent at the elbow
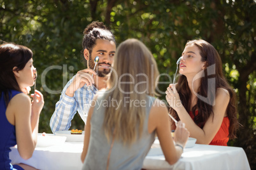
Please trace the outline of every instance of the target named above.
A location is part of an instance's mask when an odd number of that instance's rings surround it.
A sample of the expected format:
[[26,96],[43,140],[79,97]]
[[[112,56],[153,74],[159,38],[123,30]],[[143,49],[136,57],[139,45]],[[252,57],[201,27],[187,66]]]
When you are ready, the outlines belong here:
[[[148,130],[150,133],[152,133],[153,129],[156,130],[166,161],[169,162],[169,164],[174,164],[180,159],[182,149],[181,147],[174,146],[171,129],[169,128],[171,125],[167,108],[164,106],[165,104],[161,103],[162,101],[159,100],[156,100],[155,102],[156,104],[150,110]],[[187,129],[181,127],[181,122],[178,122],[176,133],[178,133],[178,135],[175,135],[176,139],[174,140],[184,147],[189,133]]]

